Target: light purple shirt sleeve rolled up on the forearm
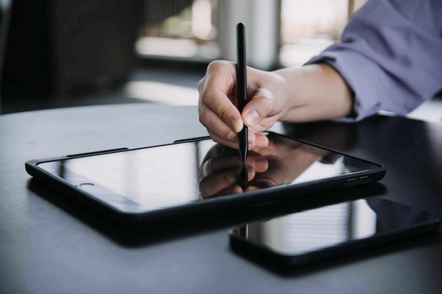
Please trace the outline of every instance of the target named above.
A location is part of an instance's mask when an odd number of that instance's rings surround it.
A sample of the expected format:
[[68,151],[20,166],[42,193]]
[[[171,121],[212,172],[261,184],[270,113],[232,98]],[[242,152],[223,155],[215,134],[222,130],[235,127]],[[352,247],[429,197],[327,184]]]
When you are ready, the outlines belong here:
[[354,92],[354,122],[387,110],[406,114],[442,89],[442,0],[370,0],[341,43],[306,64],[334,67]]

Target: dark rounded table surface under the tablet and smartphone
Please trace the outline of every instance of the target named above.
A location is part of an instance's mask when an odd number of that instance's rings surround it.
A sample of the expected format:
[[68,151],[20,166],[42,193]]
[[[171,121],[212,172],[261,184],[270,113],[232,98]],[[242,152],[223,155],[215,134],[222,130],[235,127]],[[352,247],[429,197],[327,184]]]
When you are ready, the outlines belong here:
[[[278,124],[275,130],[387,166],[383,192],[362,186],[332,197],[384,193],[442,215],[442,124],[375,116],[352,125]],[[0,292],[442,293],[439,234],[279,273],[229,249],[228,227],[253,211],[225,224],[209,217],[178,229],[145,228],[137,232],[145,242],[131,245],[136,234],[114,230],[24,169],[34,158],[205,134],[195,107],[128,104],[1,115]]]

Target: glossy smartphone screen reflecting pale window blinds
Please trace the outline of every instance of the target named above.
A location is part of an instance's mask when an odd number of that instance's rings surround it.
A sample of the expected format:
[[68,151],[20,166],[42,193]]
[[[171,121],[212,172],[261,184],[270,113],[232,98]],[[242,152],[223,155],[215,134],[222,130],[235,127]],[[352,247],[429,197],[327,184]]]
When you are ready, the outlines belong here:
[[433,220],[437,218],[427,211],[370,197],[250,223],[231,234],[250,246],[301,256],[405,231]]

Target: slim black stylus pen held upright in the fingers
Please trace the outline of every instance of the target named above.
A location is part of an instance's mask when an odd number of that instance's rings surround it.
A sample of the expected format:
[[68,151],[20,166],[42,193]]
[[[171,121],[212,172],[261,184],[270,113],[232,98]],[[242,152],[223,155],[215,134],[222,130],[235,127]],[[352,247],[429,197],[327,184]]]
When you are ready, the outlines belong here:
[[[239,22],[236,25],[236,88],[238,111],[241,113],[247,104],[246,26],[244,22]],[[238,149],[241,160],[245,164],[248,151],[248,130],[245,125],[238,133]]]

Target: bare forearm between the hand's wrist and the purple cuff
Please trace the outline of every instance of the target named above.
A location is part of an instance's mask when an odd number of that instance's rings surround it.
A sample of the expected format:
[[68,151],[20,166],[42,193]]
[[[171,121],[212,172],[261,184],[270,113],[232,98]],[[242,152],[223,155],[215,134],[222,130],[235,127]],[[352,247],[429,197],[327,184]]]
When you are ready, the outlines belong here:
[[325,63],[275,71],[284,78],[287,107],[280,120],[306,122],[335,119],[352,112],[352,93],[343,78]]

